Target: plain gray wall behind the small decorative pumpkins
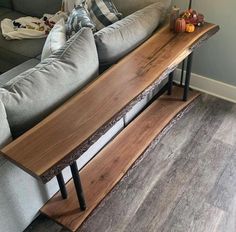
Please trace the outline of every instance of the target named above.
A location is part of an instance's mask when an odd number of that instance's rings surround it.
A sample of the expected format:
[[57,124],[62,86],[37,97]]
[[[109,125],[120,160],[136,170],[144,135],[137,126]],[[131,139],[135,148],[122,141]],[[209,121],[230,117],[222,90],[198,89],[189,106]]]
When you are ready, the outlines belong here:
[[[173,0],[181,9],[188,1]],[[221,30],[195,52],[193,73],[236,86],[236,1],[193,0],[192,8]]]

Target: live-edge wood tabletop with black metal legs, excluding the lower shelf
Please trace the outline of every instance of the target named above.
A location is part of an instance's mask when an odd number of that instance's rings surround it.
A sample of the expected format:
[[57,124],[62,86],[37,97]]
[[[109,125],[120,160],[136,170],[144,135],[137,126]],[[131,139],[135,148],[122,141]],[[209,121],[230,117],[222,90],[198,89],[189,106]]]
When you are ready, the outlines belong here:
[[176,34],[163,27],[118,64],[102,74],[58,110],[2,149],[1,154],[18,167],[47,183],[57,177],[67,198],[62,170],[71,168],[81,210],[86,209],[76,160],[140,99],[188,59],[183,100],[187,100],[192,54],[219,30],[206,23],[194,33]]

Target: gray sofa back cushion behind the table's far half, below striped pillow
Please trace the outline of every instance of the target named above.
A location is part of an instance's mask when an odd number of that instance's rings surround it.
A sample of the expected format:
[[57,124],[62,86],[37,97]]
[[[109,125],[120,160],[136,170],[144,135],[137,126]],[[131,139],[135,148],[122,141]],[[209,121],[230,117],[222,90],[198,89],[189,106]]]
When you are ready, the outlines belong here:
[[147,38],[160,23],[162,6],[152,4],[95,33],[101,65],[111,65]]

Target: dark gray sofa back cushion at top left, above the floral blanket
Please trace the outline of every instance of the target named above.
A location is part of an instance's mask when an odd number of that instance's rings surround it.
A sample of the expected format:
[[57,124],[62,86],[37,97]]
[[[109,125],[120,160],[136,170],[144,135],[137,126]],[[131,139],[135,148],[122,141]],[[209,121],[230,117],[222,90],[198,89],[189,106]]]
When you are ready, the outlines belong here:
[[61,0],[12,0],[15,11],[41,18],[43,14],[55,14],[61,9]]

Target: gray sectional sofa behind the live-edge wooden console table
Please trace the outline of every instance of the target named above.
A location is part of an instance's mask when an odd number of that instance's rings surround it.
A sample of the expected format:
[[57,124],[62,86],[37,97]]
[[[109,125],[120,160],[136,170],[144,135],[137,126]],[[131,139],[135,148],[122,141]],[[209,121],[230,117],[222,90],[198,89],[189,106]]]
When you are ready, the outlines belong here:
[[[162,2],[165,9],[170,5],[170,0],[114,0],[113,2],[124,17],[152,3]],[[55,13],[60,9],[60,5],[61,0],[34,0],[33,4],[30,0],[3,0],[0,2],[0,20],[6,17],[15,19],[24,15],[40,17],[43,13]],[[146,12],[150,12],[151,9],[153,10],[153,7],[148,8]],[[153,15],[156,15],[155,11]],[[152,26],[144,22],[148,17]],[[120,58],[150,37],[151,32],[159,25],[153,20],[151,13],[149,16],[143,13],[128,16],[124,24],[134,21],[138,22],[139,30],[133,31],[129,36],[140,37],[140,39],[132,39],[132,44],[126,41],[127,43],[122,44],[122,49],[126,47],[124,50],[119,49],[117,47],[119,44],[116,43],[109,46],[112,42],[109,41],[111,36],[109,33],[118,30],[117,25],[122,24],[118,22],[98,32],[94,36],[95,39],[89,29],[82,30],[67,41],[62,49],[42,62],[40,54],[45,39],[6,41],[0,35],[0,73],[2,73],[0,75],[0,148],[10,143],[12,138],[20,136],[33,127],[91,80],[99,78],[97,71],[101,66],[107,67],[118,62]],[[142,30],[144,27],[152,29]],[[143,33],[140,33],[140,30]],[[104,44],[107,46],[103,47]],[[84,81],[81,82],[79,78]],[[160,88],[161,86],[135,105],[124,118],[92,145],[78,159],[79,168],[89,162],[118,134]],[[66,180],[71,178],[68,169],[63,173]],[[0,231],[23,231],[37,216],[43,204],[57,191],[58,184],[55,179],[45,186],[0,156]]]

